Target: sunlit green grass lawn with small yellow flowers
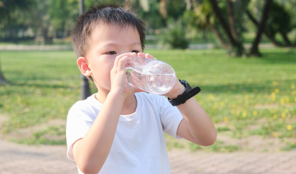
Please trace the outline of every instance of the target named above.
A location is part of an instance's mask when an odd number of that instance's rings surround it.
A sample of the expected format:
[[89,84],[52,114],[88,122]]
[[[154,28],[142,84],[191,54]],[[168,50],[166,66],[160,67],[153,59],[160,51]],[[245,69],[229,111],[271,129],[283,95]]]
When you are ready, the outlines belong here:
[[[145,50],[169,63],[179,79],[202,91],[195,96],[218,135],[240,140],[253,136],[296,148],[296,49],[264,49],[262,58],[228,57],[216,50]],[[1,51],[1,69],[10,84],[0,86],[1,133],[27,144],[65,144],[65,120],[80,99],[80,72],[73,51]],[[91,83],[91,92],[95,86]],[[3,116],[4,115],[4,116]],[[0,122],[0,123],[1,123]],[[43,125],[43,126],[40,126]],[[34,127],[39,129],[30,129]],[[18,137],[27,129],[27,137]],[[61,139],[52,137],[62,136]],[[168,148],[215,152],[240,149],[222,139],[201,147],[166,136]]]

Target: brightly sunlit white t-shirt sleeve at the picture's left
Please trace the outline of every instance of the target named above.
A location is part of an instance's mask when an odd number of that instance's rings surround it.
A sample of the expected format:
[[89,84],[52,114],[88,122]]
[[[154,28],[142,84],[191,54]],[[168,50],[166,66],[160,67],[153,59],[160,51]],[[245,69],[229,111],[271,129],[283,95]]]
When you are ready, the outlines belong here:
[[67,139],[67,157],[74,161],[73,143],[83,138],[94,122],[91,113],[82,109],[79,102],[75,103],[68,112],[66,139]]

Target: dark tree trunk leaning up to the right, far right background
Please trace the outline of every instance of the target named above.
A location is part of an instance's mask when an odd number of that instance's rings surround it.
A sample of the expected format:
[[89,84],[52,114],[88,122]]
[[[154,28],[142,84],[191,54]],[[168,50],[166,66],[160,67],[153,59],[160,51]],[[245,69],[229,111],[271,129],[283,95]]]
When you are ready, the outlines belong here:
[[267,21],[267,18],[268,18],[268,12],[269,12],[269,9],[271,7],[271,4],[272,4],[272,0],[266,0],[265,5],[264,5],[264,9],[263,9],[263,15],[262,15],[262,18],[261,18],[261,22],[260,22],[260,24],[258,26],[256,38],[253,41],[253,45],[252,45],[252,48],[251,48],[250,55],[261,56],[261,53],[258,50],[258,45],[259,45],[259,42],[260,42],[261,35],[262,35],[262,33],[264,31],[264,28],[265,28],[265,24],[266,24],[266,21]]

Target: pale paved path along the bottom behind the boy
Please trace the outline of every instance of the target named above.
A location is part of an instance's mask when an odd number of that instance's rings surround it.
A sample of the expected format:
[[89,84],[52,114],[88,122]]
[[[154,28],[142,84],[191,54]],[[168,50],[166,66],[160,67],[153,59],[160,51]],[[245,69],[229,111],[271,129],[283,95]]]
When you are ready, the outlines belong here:
[[[14,173],[77,173],[66,146],[27,146],[0,139],[0,171]],[[205,153],[169,151],[172,174],[295,174],[296,150],[274,153]]]

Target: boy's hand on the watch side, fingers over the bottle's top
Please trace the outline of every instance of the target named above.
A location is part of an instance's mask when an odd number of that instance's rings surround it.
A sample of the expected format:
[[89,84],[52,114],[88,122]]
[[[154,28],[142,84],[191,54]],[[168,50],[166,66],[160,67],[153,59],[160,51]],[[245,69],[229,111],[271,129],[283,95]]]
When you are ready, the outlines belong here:
[[[155,57],[153,57],[151,54],[148,53],[138,53],[139,57],[146,57],[148,59],[155,59],[157,60]],[[178,78],[176,77],[176,83],[174,85],[174,87],[166,94],[162,94],[163,96],[167,96],[170,99],[175,99],[177,98],[178,95],[183,94],[183,92],[185,91],[185,87],[180,83],[180,81],[178,80]]]

